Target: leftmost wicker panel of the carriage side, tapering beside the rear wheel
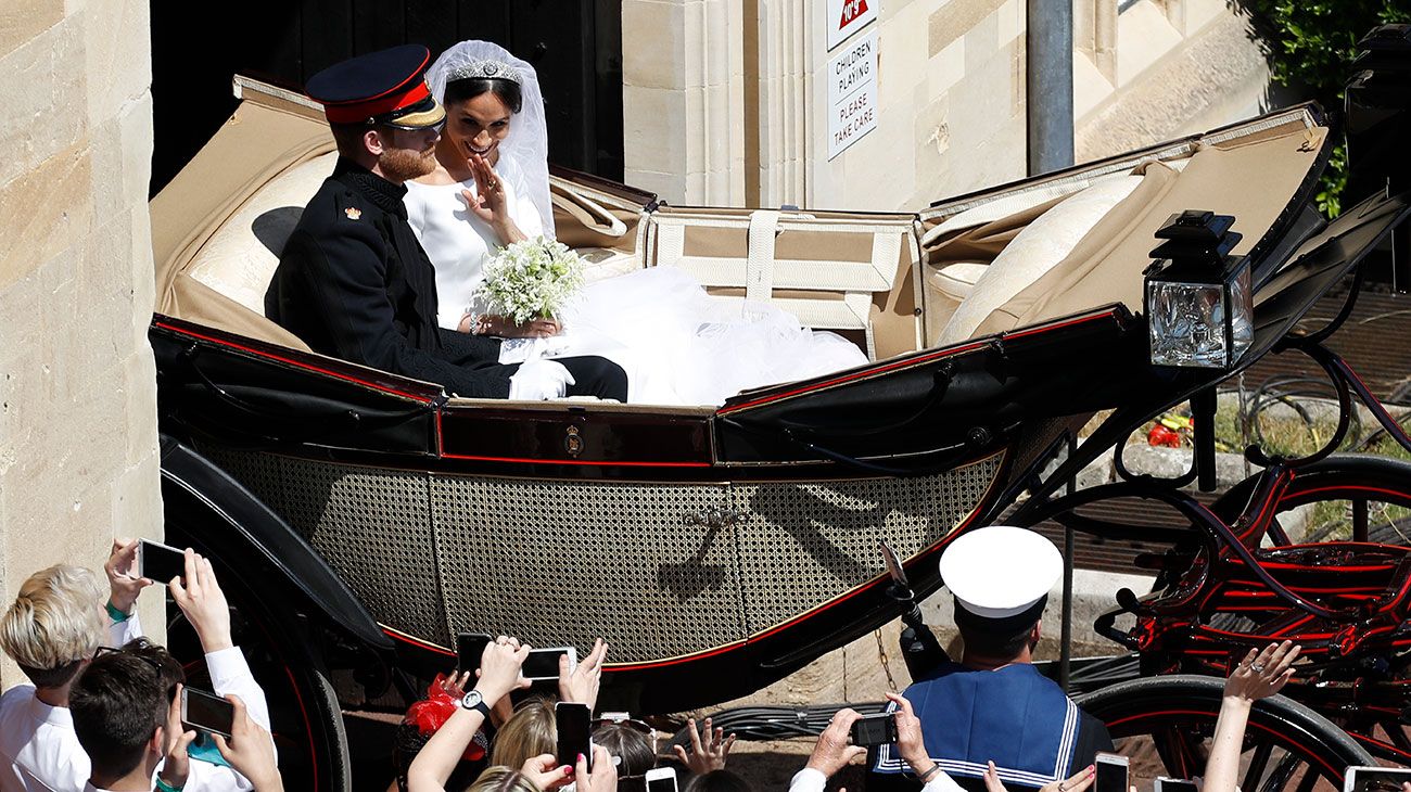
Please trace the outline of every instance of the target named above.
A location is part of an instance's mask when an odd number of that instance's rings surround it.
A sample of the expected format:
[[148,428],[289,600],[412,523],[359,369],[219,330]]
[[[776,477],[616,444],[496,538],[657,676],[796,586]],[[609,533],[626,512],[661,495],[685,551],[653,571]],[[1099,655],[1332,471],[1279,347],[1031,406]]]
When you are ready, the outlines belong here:
[[452,645],[432,561],[429,475],[203,445],[289,521],[378,621]]

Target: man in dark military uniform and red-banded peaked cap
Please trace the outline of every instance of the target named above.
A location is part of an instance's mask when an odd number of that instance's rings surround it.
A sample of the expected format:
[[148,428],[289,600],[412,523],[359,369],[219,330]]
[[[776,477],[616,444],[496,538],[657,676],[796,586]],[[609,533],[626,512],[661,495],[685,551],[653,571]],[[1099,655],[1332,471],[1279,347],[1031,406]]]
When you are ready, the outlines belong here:
[[313,351],[456,396],[626,402],[626,373],[604,358],[501,365],[499,340],[436,326],[436,271],[406,223],[405,182],[436,168],[446,110],[426,89],[430,61],[409,44],[309,79],[339,162],[295,225],[265,292],[265,316]]

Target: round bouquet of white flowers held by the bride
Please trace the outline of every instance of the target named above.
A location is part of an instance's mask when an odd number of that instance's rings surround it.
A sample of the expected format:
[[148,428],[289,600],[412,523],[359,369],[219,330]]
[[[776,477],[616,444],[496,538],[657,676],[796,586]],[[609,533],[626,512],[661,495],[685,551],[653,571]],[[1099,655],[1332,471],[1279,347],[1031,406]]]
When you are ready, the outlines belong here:
[[476,296],[490,309],[523,324],[553,318],[583,287],[583,259],[569,245],[535,237],[499,248],[485,262]]

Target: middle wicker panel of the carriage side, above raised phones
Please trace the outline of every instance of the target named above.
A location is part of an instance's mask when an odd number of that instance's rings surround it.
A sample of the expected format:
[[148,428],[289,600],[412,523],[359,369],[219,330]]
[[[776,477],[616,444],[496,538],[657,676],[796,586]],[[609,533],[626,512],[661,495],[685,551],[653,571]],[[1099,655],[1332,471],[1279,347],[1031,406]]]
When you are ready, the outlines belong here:
[[580,652],[602,636],[614,662],[744,638],[734,528],[689,523],[728,502],[727,485],[436,476],[450,624]]

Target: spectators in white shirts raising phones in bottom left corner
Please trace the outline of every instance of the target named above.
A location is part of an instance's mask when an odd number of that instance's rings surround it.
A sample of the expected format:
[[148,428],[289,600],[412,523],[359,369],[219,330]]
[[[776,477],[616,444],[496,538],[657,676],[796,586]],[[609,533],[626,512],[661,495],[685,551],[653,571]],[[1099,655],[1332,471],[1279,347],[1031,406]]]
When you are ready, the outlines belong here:
[[[0,648],[30,681],[0,696],[0,791],[282,791],[270,707],[231,640],[210,561],[188,550],[183,575],[151,581],[135,555],[135,540],[113,541],[106,598],[86,568],[41,569],[0,617]],[[213,692],[231,703],[229,738],[182,723],[186,672],[143,636],[137,600],[158,582],[199,638]]]

